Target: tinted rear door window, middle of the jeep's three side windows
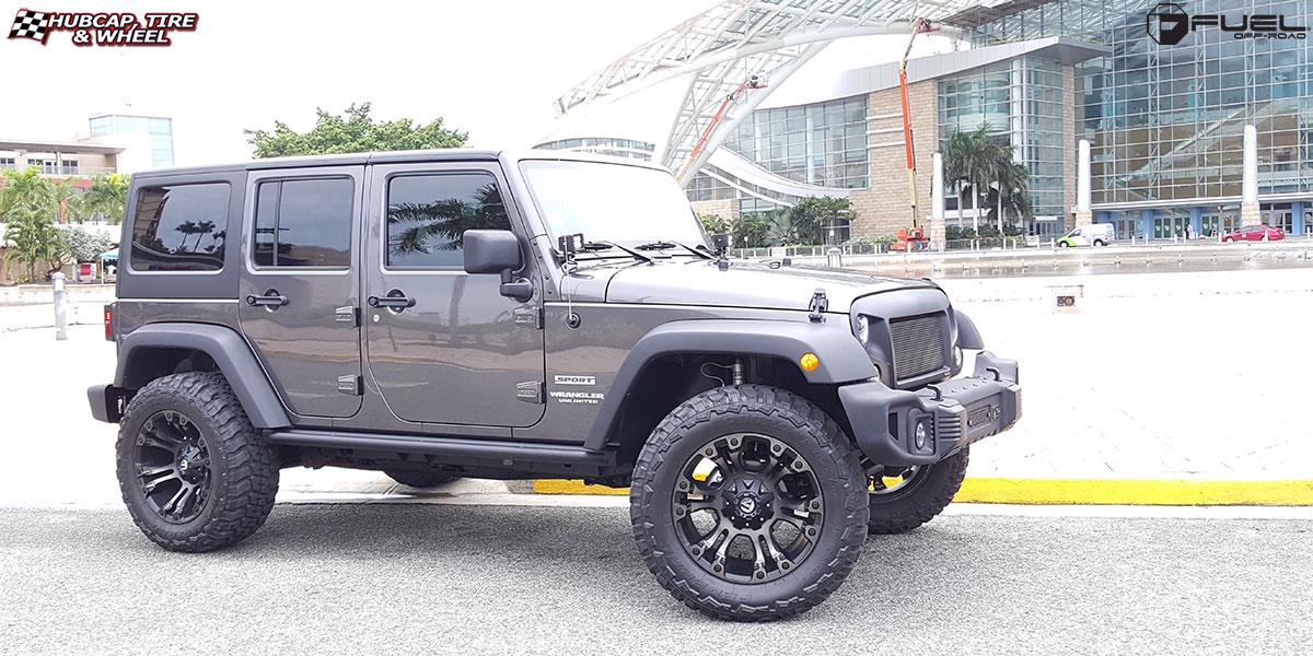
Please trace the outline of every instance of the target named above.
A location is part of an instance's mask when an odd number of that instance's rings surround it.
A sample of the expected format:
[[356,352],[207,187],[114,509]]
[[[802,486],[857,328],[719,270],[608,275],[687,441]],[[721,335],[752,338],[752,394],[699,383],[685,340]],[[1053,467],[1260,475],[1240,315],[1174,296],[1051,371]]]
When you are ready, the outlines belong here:
[[349,177],[260,182],[255,203],[252,261],[256,266],[351,265]]

